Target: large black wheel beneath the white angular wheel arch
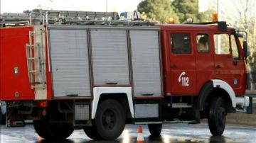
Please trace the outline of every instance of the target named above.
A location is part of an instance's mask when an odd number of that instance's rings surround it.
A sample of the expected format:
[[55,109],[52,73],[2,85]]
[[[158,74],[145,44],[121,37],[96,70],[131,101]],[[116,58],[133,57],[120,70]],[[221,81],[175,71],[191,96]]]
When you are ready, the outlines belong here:
[[97,108],[95,127],[102,139],[117,139],[124,130],[125,119],[122,105],[113,99],[107,99]]

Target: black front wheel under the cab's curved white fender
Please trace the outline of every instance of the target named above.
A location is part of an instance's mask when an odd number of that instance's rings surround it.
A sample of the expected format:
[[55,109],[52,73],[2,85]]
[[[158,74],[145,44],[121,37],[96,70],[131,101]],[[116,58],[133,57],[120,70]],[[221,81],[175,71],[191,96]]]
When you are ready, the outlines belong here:
[[210,103],[208,126],[212,135],[223,135],[225,130],[226,109],[223,98],[214,97]]

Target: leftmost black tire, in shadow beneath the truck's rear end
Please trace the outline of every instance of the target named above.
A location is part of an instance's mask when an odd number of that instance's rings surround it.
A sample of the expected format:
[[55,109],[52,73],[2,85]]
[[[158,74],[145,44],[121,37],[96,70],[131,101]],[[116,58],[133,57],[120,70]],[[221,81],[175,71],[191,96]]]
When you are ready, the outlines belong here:
[[44,139],[66,139],[74,129],[68,123],[49,124],[47,120],[33,120],[36,133]]

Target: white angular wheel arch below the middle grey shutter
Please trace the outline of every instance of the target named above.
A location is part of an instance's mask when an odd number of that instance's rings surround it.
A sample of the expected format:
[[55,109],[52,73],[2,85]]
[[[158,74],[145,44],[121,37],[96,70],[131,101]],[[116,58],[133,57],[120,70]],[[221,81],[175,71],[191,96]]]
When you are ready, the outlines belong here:
[[95,87],[93,88],[92,119],[95,119],[97,107],[102,101],[114,99],[124,108],[126,118],[134,118],[134,105],[131,87]]

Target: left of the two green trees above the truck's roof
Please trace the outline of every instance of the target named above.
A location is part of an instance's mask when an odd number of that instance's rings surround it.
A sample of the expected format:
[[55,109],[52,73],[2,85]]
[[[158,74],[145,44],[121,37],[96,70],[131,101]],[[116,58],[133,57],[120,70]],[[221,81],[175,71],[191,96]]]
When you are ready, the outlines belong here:
[[178,23],[178,17],[170,0],[144,0],[139,3],[138,11],[145,12],[146,16],[160,23],[168,23],[169,18],[174,18],[174,21]]

